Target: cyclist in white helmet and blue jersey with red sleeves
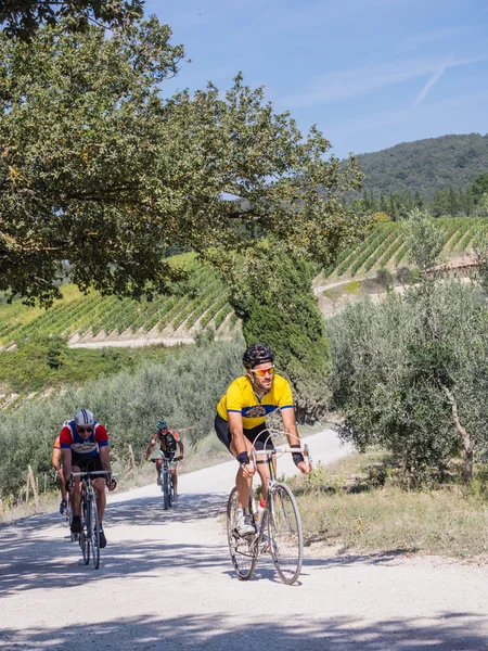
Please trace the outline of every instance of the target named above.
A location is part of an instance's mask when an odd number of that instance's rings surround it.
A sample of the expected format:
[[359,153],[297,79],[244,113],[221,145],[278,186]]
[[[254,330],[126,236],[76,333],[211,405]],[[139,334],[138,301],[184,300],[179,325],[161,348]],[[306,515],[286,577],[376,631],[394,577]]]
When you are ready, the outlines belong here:
[[[108,451],[108,434],[105,427],[93,419],[93,414],[88,409],[78,409],[73,420],[67,421],[60,433],[61,457],[63,461],[63,472],[66,482],[72,472],[111,470],[111,458]],[[105,484],[108,490],[113,490],[116,483],[106,475],[93,480],[93,488],[97,493],[97,508],[100,520],[100,547],[105,547],[106,538],[103,532],[103,514],[105,512],[106,497]],[[74,534],[81,532],[80,519],[80,483],[75,482],[74,486],[68,486],[70,492],[69,501],[72,503],[73,522],[72,532]]]

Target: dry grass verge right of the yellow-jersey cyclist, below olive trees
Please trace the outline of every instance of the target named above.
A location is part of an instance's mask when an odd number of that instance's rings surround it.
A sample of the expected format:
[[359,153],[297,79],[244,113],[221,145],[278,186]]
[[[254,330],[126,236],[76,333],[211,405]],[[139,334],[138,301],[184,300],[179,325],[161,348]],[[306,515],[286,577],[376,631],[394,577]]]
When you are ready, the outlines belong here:
[[308,544],[355,552],[487,553],[486,497],[455,484],[407,492],[382,460],[381,454],[351,455],[291,480]]

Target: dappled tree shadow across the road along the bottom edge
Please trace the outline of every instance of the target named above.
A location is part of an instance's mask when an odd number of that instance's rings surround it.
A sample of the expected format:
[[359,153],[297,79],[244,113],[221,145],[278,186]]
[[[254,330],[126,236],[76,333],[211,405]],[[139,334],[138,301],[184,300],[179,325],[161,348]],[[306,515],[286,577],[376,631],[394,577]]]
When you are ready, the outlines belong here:
[[[209,601],[215,595],[209,592]],[[159,604],[162,607],[162,604]],[[170,609],[170,604],[168,604]],[[436,622],[393,618],[367,623],[360,618],[288,622],[246,621],[245,613],[124,617],[91,625],[57,628],[4,627],[0,647],[49,651],[155,651],[202,649],[208,651],[486,651],[487,618],[470,613],[439,613]],[[89,618],[89,612],[87,611]]]

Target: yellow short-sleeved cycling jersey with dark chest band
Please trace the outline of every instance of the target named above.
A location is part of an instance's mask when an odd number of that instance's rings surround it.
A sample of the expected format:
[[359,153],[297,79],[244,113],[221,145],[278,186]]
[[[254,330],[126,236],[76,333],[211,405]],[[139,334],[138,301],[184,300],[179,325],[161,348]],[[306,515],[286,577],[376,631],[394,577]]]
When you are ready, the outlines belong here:
[[243,427],[252,430],[264,423],[268,413],[278,408],[293,408],[292,388],[284,378],[274,375],[271,390],[259,397],[249,378],[242,375],[229,386],[217,405],[217,412],[223,420],[228,420],[228,412],[241,413]]

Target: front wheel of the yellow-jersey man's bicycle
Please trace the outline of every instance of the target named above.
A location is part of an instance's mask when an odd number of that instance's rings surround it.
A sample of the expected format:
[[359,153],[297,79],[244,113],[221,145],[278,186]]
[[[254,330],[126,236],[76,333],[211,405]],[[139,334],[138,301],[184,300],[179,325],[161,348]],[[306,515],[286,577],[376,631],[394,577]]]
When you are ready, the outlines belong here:
[[269,548],[283,583],[298,578],[304,559],[304,534],[295,497],[286,484],[277,484],[269,501]]

